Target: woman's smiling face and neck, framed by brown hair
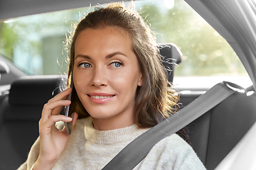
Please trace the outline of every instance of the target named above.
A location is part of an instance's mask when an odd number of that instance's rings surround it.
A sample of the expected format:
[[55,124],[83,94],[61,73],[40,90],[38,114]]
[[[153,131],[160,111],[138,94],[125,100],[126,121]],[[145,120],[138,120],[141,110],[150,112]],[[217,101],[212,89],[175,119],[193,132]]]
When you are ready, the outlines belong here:
[[82,30],[75,41],[73,81],[78,97],[98,130],[134,124],[142,73],[132,41],[117,28]]

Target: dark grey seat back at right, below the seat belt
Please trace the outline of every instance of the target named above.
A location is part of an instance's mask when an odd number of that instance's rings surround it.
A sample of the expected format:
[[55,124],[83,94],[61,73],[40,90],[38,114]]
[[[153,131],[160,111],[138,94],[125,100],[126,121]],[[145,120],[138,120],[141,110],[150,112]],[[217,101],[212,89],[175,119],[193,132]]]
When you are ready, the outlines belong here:
[[256,121],[256,94],[247,91],[249,96],[235,93],[186,127],[193,149],[209,170],[218,166]]

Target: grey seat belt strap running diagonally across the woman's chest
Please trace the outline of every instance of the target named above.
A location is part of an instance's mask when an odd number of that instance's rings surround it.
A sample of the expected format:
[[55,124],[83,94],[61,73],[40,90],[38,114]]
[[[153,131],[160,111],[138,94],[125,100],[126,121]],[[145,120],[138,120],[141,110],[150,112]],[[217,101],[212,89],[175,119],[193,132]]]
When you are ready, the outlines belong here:
[[130,142],[103,170],[134,169],[157,142],[181,130],[236,91],[245,92],[245,89],[228,81],[216,84],[186,107]]

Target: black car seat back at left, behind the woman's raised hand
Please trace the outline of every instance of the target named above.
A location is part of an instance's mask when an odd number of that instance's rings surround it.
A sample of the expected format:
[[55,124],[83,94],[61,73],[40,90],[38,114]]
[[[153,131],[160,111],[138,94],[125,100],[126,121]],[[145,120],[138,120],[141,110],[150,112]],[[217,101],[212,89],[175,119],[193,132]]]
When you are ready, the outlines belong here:
[[58,94],[63,77],[22,77],[0,103],[0,169],[17,169],[38,137],[43,104]]

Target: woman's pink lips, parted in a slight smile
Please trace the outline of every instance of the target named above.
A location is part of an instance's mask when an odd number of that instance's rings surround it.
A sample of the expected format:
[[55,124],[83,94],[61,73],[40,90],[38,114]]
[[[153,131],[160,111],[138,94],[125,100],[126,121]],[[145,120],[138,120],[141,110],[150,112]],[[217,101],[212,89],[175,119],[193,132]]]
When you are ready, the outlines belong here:
[[105,93],[92,93],[92,94],[87,94],[89,97],[90,101],[93,103],[97,104],[103,104],[111,101],[115,95],[113,94],[105,94]]

